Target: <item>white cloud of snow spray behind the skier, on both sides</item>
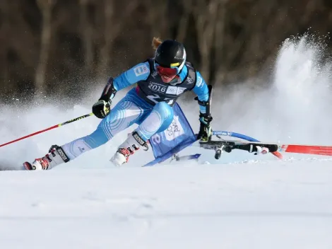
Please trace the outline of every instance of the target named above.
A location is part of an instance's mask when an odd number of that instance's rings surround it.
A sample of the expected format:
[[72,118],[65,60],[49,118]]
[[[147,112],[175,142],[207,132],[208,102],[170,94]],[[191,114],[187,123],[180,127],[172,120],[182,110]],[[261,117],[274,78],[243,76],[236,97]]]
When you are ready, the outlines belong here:
[[[215,89],[213,129],[239,132],[261,141],[331,144],[332,134],[329,132],[332,125],[329,115],[332,101],[329,83],[332,78],[331,69],[332,64],[328,57],[326,59],[325,47],[321,42],[316,42],[307,35],[285,40],[275,60],[271,79],[266,81],[266,87],[244,83],[234,85],[232,88]],[[20,106],[19,100],[13,100],[16,102],[15,107],[1,106],[0,144],[89,113],[91,103],[99,97],[101,91],[101,88],[96,89],[93,93],[89,93],[85,103],[67,110],[61,108],[60,100],[57,107],[52,104],[42,107]],[[114,104],[124,94],[124,91],[117,93]],[[194,130],[197,131],[197,103],[194,101],[186,103],[182,108]],[[23,161],[43,156],[52,144],[61,145],[93,132],[98,122],[100,120],[97,118],[89,117],[1,147],[0,165],[16,167]],[[117,135],[106,145],[83,154],[69,163],[69,166],[109,167],[109,158],[132,129],[134,127]],[[198,152],[196,148],[186,151]],[[142,154],[143,152],[134,155],[136,157],[133,160],[134,165],[137,166],[138,161],[142,164],[153,158],[152,154],[148,156]],[[204,155],[202,162],[216,162],[211,159],[212,151],[205,151]],[[225,162],[251,158],[253,158],[251,155],[242,151],[227,156]],[[273,156],[271,160],[272,158]]]

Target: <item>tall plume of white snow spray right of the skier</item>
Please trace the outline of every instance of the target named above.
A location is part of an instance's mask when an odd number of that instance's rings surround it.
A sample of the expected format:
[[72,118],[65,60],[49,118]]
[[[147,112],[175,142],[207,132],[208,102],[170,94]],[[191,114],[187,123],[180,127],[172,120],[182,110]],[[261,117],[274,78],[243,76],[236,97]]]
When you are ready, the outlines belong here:
[[[263,141],[331,144],[331,69],[313,37],[285,40],[266,88],[240,85],[213,105],[218,128]],[[220,112],[216,111],[221,106]]]

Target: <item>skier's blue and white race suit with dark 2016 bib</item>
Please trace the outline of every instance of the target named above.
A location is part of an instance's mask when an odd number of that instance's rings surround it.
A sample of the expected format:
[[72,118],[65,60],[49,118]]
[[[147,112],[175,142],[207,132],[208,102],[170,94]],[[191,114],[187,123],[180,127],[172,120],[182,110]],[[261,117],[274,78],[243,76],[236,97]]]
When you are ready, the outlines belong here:
[[[137,83],[136,88],[132,88],[112,108],[95,132],[61,146],[69,159],[72,160],[90,149],[105,144],[118,132],[133,124],[138,125],[136,128],[138,135],[148,141],[153,134],[162,132],[170,126],[173,120],[172,105],[186,91],[194,91],[198,100],[202,102],[209,98],[206,81],[189,62],[186,62],[182,71],[171,83],[162,81],[155,71],[153,59],[124,71],[113,81],[117,91],[135,83]],[[206,107],[199,105],[199,110],[205,113]]]

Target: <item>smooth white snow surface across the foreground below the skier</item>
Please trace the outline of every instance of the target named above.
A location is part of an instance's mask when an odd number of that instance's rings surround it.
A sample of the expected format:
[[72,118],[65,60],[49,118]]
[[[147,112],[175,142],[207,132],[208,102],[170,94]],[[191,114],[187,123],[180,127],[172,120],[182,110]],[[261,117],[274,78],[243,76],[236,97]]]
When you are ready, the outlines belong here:
[[1,248],[331,248],[331,161],[0,174]]

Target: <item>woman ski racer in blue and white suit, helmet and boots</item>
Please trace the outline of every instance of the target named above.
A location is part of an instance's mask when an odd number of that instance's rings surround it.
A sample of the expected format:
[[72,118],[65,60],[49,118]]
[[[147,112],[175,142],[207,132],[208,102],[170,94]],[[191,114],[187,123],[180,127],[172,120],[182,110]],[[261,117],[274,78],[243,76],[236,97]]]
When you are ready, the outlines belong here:
[[[49,154],[33,163],[25,162],[27,170],[47,170],[66,163],[86,151],[95,149],[112,139],[118,132],[138,124],[137,129],[119,146],[111,161],[116,166],[128,162],[129,156],[140,147],[147,148],[153,134],[162,132],[173,120],[175,101],[186,91],[194,91],[199,105],[200,129],[198,139],[211,137],[212,121],[206,81],[186,62],[186,50],[176,40],[153,38],[155,57],[137,64],[116,78],[110,78],[100,99],[93,105],[93,114],[102,119],[95,132],[62,146],[54,145]],[[137,83],[111,110],[115,93]]]

